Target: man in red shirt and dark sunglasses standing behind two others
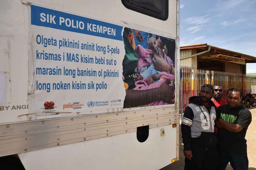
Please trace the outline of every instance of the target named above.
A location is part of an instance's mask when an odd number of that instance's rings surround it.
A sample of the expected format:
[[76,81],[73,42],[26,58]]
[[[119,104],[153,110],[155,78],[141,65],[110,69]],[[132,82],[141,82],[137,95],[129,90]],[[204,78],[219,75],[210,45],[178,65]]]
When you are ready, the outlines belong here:
[[227,104],[227,101],[225,101],[222,98],[222,95],[223,95],[222,85],[216,84],[213,87],[214,87],[214,95],[213,95],[213,98],[211,98],[211,101],[213,101],[216,108],[218,108],[220,105]]

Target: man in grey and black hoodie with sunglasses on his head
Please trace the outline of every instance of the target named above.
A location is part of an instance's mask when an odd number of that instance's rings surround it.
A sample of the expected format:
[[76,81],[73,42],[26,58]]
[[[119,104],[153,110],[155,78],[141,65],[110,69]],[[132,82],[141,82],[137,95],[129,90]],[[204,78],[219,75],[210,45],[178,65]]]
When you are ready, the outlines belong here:
[[184,170],[216,170],[218,138],[214,133],[215,105],[211,101],[214,88],[202,85],[199,96],[189,98],[181,122],[184,144]]

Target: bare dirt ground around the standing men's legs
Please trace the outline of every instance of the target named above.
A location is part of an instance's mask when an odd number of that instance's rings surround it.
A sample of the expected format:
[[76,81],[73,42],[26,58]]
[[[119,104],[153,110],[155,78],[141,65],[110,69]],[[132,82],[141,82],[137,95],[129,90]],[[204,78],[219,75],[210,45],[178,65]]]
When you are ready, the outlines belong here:
[[[249,125],[249,128],[246,132],[245,139],[247,140],[247,156],[249,160],[249,170],[256,170],[256,135],[255,135],[255,129],[256,129],[256,107],[249,108],[249,110],[252,113],[252,122]],[[181,119],[180,119],[181,123]],[[181,129],[180,129],[181,132]],[[184,169],[184,155],[183,155],[183,143],[180,133],[180,158],[178,161],[165,166],[161,170],[183,170]],[[233,170],[233,168],[230,166],[230,164],[227,165],[226,170]]]

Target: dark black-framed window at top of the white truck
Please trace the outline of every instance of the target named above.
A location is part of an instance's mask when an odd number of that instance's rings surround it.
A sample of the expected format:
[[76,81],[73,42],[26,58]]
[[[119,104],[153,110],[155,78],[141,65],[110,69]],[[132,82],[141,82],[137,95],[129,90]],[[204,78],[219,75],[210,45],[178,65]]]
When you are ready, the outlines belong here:
[[160,20],[168,18],[168,0],[121,0],[128,9]]

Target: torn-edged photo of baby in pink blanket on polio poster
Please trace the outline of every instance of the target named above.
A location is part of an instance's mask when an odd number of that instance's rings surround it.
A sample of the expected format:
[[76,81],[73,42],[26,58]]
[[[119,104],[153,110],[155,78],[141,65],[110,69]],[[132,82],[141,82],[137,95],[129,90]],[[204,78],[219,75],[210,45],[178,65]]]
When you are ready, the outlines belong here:
[[124,28],[124,108],[175,102],[175,40]]

